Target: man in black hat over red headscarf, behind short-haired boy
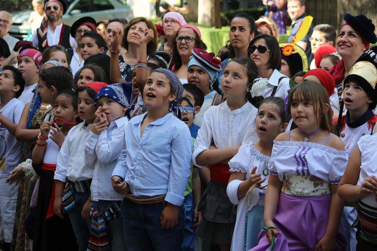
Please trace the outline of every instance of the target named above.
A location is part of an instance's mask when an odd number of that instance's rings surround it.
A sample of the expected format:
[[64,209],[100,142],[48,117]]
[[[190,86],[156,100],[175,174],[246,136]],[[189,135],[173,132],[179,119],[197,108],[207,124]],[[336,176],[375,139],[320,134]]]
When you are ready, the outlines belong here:
[[97,31],[97,23],[96,20],[91,17],[82,17],[76,22],[73,23],[71,27],[71,36],[77,42],[77,48],[71,48],[67,50],[69,62],[71,66],[71,70],[74,74],[76,71],[84,65],[84,60],[80,56],[80,43],[82,39],[82,35],[87,31]]

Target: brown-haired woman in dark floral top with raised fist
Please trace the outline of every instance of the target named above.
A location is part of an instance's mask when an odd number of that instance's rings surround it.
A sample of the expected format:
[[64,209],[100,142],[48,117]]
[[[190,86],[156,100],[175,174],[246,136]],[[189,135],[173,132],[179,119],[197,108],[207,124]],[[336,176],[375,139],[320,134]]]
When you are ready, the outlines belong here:
[[[157,48],[157,31],[153,23],[145,18],[134,18],[125,27],[124,32],[113,38],[111,52],[110,82],[131,82],[132,69],[139,61],[140,41],[147,29],[152,29],[154,38],[147,45],[147,55],[152,55]],[[113,32],[113,31],[112,31]],[[124,34],[124,36],[123,36]],[[123,37],[122,37],[123,36]],[[127,52],[119,55],[119,38]],[[119,71],[120,68],[120,71]]]

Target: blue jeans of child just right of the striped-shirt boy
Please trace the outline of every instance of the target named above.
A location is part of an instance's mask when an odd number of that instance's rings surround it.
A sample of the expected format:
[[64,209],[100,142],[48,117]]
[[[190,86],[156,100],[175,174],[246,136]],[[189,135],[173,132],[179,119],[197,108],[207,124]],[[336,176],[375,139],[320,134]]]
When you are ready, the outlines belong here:
[[183,234],[181,250],[194,251],[195,229],[193,226],[194,224],[193,193],[189,193],[186,195],[186,197],[184,197],[183,207],[184,207],[184,220],[182,220],[183,224],[181,224],[182,234]]

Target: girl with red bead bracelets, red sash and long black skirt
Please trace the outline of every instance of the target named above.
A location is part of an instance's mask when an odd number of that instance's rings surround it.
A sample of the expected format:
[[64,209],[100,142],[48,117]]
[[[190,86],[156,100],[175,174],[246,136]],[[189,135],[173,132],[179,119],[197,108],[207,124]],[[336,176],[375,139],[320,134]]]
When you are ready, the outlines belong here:
[[77,97],[73,90],[60,91],[53,103],[54,122],[44,121],[32,154],[33,167],[40,176],[33,250],[77,249],[69,219],[54,213],[54,173],[59,151],[69,130],[76,124]]

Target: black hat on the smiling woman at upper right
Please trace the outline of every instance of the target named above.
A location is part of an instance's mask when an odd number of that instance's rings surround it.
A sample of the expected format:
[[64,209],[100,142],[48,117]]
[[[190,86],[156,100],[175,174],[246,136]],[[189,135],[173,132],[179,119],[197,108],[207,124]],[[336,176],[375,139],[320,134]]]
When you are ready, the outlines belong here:
[[374,25],[370,19],[364,15],[358,15],[353,17],[347,13],[344,15],[344,21],[349,24],[355,31],[361,34],[361,36],[371,44],[377,43],[377,36],[374,34]]

